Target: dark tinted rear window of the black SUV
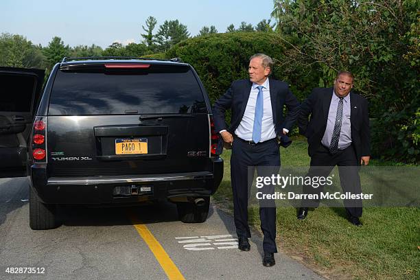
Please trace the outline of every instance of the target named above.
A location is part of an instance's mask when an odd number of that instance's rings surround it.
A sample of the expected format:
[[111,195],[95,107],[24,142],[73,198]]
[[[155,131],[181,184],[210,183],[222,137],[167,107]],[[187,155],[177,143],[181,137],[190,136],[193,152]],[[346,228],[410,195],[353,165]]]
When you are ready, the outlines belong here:
[[[137,112],[136,112],[137,111]],[[198,81],[188,66],[147,69],[60,69],[49,115],[207,113]]]

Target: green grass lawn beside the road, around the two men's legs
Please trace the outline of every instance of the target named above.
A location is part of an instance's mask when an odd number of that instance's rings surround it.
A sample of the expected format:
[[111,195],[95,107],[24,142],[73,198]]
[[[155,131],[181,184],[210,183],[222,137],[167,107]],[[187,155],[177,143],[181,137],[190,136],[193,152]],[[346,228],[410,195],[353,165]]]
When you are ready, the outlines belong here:
[[[213,196],[228,211],[233,208],[230,155],[229,150],[222,154],[224,178]],[[282,166],[307,167],[309,163],[304,139],[281,148]],[[382,165],[375,160],[371,164]],[[362,189],[365,187],[369,186],[362,185]],[[259,231],[257,207],[250,207],[248,214],[249,223]],[[361,220],[364,225],[356,227],[346,220],[344,208],[319,207],[299,221],[296,209],[279,207],[277,245],[333,279],[420,279],[420,209],[365,207]]]

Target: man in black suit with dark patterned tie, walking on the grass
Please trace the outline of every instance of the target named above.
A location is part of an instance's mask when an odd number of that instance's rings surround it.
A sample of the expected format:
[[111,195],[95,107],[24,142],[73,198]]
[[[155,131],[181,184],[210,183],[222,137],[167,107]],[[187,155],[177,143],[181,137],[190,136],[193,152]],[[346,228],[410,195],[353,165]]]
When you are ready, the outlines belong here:
[[[327,177],[338,165],[343,193],[360,194],[360,165],[368,165],[370,159],[370,135],[368,104],[364,97],[351,91],[353,74],[339,72],[334,87],[314,89],[301,104],[298,126],[307,137],[308,154],[311,157],[307,176]],[[308,122],[308,117],[310,121]],[[305,194],[320,194],[323,186],[304,186]],[[344,200],[349,221],[361,226],[362,200]],[[298,219],[307,216],[308,207],[318,207],[319,199],[302,201]]]

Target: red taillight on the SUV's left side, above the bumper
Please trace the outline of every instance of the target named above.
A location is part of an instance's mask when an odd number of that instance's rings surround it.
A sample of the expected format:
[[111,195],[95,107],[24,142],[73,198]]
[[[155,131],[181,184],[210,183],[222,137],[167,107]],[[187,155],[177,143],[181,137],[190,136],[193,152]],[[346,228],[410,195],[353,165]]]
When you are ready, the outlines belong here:
[[32,126],[30,153],[36,163],[47,162],[47,117],[35,117]]

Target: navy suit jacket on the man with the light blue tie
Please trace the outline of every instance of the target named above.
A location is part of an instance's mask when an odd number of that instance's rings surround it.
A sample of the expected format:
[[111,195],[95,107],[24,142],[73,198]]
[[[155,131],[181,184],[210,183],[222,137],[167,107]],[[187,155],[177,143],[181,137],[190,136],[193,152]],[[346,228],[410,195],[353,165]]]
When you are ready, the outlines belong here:
[[[299,113],[299,102],[292,94],[288,84],[278,80],[269,79],[270,99],[272,108],[272,117],[275,124],[276,135],[283,135],[283,128],[290,130],[296,121]],[[232,135],[240,125],[244,117],[246,104],[250,95],[250,80],[236,80],[231,87],[217,100],[213,106],[213,120],[215,131],[226,129]],[[286,116],[283,115],[284,105],[288,108]],[[226,125],[225,112],[231,109],[231,126]],[[221,138],[221,137],[220,137]],[[216,154],[221,154],[223,149],[223,140],[220,139]]]

